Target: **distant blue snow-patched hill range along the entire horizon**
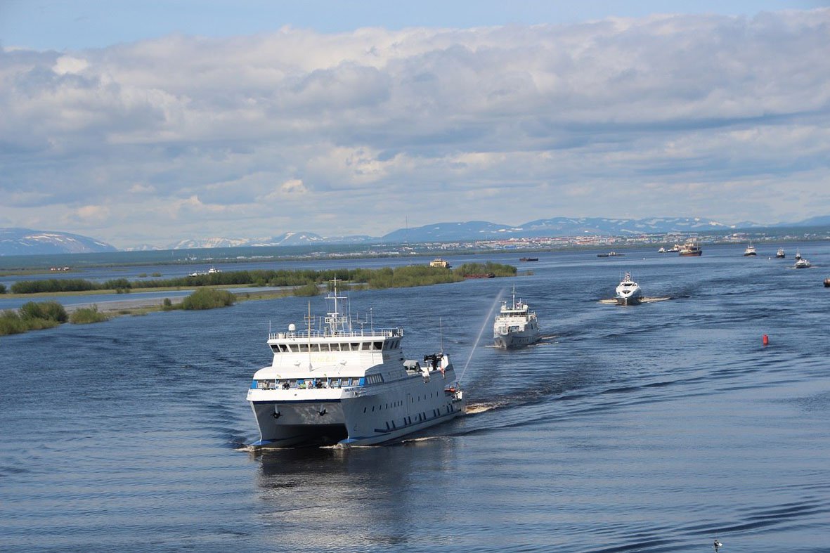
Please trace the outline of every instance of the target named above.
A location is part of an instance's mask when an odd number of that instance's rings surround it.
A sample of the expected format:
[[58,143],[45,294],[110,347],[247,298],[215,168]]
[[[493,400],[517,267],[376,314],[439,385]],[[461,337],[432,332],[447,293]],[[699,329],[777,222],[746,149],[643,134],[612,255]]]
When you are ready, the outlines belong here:
[[[466,223],[435,223],[414,228],[398,228],[382,237],[341,236],[322,237],[314,232],[285,232],[264,238],[187,238],[168,244],[167,247],[143,245],[132,250],[192,249],[203,247],[256,247],[256,246],[309,246],[313,244],[370,244],[417,242],[469,242],[529,237],[557,236],[636,236],[679,232],[728,232],[759,228],[830,227],[830,216],[813,217],[800,223],[764,225],[744,221],[720,223],[708,218],[568,218],[536,219],[521,225],[503,225],[486,221]],[[34,231],[27,228],[0,228],[0,256],[37,255],[55,253],[115,252],[110,246],[95,238],[69,234],[68,232]]]

